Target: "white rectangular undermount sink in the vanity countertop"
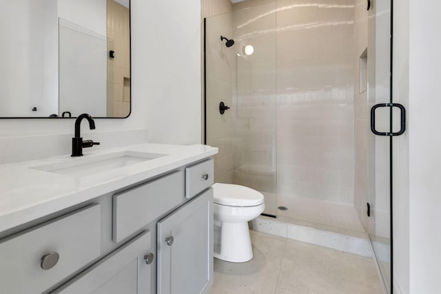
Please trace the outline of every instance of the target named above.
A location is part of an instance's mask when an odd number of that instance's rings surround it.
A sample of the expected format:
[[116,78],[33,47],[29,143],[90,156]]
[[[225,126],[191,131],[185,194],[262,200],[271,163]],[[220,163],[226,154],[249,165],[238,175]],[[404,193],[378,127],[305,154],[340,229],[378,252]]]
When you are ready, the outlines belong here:
[[111,171],[120,167],[127,167],[139,162],[152,160],[166,156],[167,154],[154,154],[136,151],[120,151],[112,154],[103,154],[97,156],[84,156],[81,158],[68,158],[62,162],[56,162],[49,165],[39,165],[30,167],[39,171],[49,171],[54,174],[62,174],[74,177],[85,177],[99,174],[103,171]]

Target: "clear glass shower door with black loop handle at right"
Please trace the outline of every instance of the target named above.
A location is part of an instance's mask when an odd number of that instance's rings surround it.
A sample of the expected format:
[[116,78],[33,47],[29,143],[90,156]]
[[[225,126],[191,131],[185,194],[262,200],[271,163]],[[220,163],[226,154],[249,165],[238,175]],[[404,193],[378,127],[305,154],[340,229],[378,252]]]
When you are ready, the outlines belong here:
[[368,25],[368,231],[384,284],[393,293],[393,137],[404,133],[405,109],[392,98],[391,1],[376,1]]

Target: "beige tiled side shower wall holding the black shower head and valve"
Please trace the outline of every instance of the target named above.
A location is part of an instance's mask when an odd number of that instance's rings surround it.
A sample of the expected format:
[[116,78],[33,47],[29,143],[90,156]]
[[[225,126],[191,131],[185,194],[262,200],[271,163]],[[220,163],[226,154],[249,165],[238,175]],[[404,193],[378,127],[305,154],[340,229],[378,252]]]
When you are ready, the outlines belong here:
[[[202,1],[202,21],[204,17],[219,15],[207,20],[206,58],[207,68],[211,69],[207,70],[207,144],[219,148],[214,157],[214,181],[227,183],[232,182],[232,112],[220,115],[218,107],[220,101],[232,106],[232,73],[236,60],[232,58],[230,48],[225,47],[225,41],[220,41],[220,35],[232,38],[232,14],[227,13],[231,11],[232,2],[229,0]],[[204,119],[203,114],[202,126]],[[202,131],[204,134],[204,129]]]

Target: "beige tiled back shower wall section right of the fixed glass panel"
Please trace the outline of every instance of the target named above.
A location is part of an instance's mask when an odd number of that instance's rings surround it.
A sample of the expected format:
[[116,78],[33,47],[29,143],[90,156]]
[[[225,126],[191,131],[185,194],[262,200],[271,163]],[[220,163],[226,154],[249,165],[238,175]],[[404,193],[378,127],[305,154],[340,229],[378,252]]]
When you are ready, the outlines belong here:
[[353,0],[280,0],[278,204],[353,204]]

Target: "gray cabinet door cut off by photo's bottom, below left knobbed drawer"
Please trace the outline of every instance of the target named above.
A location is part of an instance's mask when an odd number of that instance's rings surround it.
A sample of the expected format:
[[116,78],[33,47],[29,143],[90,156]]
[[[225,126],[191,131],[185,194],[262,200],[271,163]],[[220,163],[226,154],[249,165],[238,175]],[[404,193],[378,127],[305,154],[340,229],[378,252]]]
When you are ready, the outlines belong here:
[[152,266],[144,260],[150,247],[150,232],[145,231],[53,293],[151,293]]

